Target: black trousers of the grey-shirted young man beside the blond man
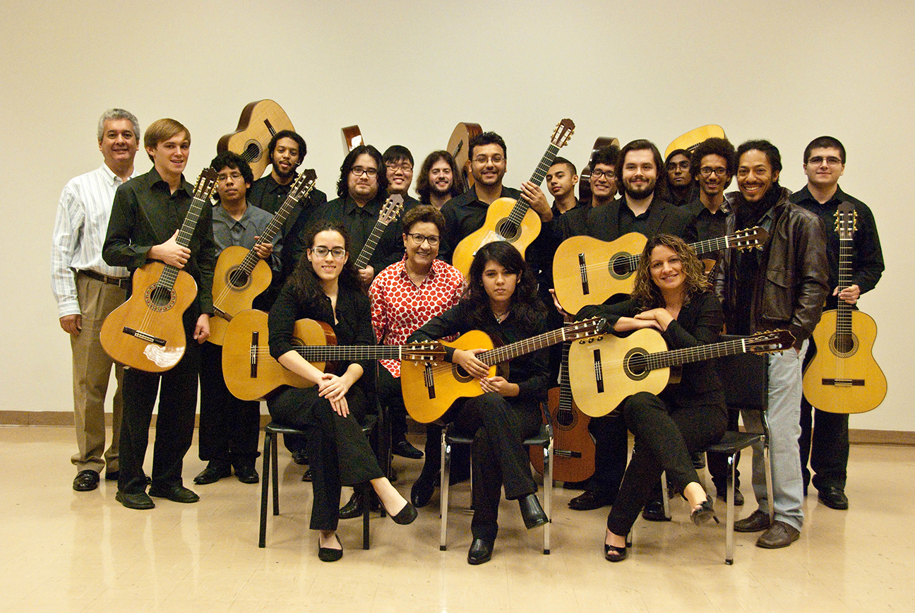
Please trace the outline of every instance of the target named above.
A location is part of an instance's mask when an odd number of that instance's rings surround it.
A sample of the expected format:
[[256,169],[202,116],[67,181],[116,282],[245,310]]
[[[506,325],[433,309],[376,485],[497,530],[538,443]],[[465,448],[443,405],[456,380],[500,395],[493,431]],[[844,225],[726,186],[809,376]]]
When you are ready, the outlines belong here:
[[222,376],[222,348],[200,346],[199,456],[251,462],[260,454],[261,404],[231,395]]

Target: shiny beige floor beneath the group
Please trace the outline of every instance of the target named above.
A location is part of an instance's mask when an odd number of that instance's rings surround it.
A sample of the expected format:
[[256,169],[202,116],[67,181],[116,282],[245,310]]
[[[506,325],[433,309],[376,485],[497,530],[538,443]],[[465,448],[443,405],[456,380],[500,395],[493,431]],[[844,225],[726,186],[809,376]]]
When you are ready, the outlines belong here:
[[[361,522],[341,522],[346,553],[331,565],[318,561],[307,530],[310,486],[285,452],[283,514],[269,519],[259,549],[260,486],[223,479],[194,488],[198,504],[156,499],[153,511],[129,511],[115,502],[113,483],[70,488],[74,446],[69,428],[0,428],[0,610],[915,610],[913,448],[854,446],[850,511],[823,507],[812,489],[798,543],[767,551],[753,546],[756,535],[737,534],[733,566],[723,563],[723,526],[694,527],[682,500],[673,500],[673,522],[638,522],[630,559],[610,565],[601,548],[606,512],[568,510],[575,492],[564,489],[554,489],[552,554],[541,553],[541,530],[524,531],[517,506],[503,501],[492,561],[469,566],[466,484],[452,489],[447,552],[438,551],[436,494],[410,526],[373,517],[370,551],[360,548]],[[196,452],[195,444],[186,484],[203,467]],[[408,492],[420,461],[395,462]],[[749,469],[749,457],[741,464]],[[738,517],[755,508],[745,493]]]

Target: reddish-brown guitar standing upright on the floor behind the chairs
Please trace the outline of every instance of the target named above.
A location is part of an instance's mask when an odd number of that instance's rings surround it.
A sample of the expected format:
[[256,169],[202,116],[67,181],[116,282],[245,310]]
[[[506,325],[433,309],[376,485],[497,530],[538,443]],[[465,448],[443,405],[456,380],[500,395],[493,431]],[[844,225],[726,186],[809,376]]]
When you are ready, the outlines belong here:
[[[563,360],[559,367],[559,387],[547,392],[547,403],[553,424],[553,479],[584,481],[594,474],[594,439],[587,431],[590,417],[578,410],[569,385],[569,344],[563,343]],[[544,451],[530,449],[531,464],[544,474]]]

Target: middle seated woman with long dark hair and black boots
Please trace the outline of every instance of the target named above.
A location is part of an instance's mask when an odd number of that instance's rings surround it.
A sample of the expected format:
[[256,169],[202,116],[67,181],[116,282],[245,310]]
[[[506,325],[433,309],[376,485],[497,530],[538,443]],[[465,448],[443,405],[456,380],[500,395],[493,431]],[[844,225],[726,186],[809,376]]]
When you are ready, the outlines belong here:
[[[468,287],[457,306],[431,319],[410,340],[441,339],[479,329],[504,343],[546,331],[544,306],[537,298],[536,279],[511,243],[490,242],[480,247],[470,264]],[[488,562],[499,531],[499,500],[518,500],[524,525],[530,530],[548,522],[537,500],[522,441],[540,429],[540,403],[549,382],[547,350],[511,360],[508,377],[489,376],[489,366],[477,359],[483,349],[450,350],[448,360],[479,380],[482,395],[458,399],[444,415],[455,432],[473,436],[473,543],[468,563]],[[433,457],[435,456],[435,457]],[[437,455],[426,455],[424,474],[437,472]]]

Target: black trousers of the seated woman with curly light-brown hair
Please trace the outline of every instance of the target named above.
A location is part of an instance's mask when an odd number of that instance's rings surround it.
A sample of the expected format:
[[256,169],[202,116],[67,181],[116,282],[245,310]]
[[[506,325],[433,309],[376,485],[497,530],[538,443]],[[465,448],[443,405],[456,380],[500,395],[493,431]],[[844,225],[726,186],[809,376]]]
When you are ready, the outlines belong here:
[[635,449],[607,527],[624,535],[630,532],[662,472],[678,492],[699,480],[690,453],[721,439],[727,415],[724,405],[672,406],[647,392],[630,396],[618,411],[635,436]]

